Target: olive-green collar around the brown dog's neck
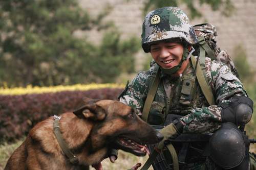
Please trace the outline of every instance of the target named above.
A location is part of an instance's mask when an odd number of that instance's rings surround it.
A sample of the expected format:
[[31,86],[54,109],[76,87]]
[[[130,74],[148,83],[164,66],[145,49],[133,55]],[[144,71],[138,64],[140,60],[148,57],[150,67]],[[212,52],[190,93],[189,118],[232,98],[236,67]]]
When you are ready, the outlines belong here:
[[70,149],[68,148],[68,144],[65,142],[65,140],[63,139],[61,132],[60,132],[60,128],[59,128],[59,120],[60,120],[61,116],[53,116],[54,122],[53,122],[53,132],[54,135],[60,145],[61,150],[65,153],[65,155],[69,158],[69,161],[72,164],[76,164],[78,163],[78,158],[70,151]]

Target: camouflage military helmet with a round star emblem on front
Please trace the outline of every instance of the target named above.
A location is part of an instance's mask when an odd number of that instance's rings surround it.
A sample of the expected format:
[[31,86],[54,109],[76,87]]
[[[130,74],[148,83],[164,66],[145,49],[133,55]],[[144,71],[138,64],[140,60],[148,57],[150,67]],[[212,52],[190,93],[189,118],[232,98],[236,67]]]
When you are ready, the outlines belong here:
[[187,15],[177,7],[159,8],[148,13],[143,21],[141,44],[145,53],[155,41],[180,38],[188,44],[198,42]]

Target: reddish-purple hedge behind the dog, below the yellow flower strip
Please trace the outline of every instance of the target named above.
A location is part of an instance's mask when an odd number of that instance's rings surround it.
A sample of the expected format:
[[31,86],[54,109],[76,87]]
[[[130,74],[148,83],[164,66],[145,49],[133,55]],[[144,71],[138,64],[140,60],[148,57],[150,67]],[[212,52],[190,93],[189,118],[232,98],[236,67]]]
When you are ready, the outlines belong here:
[[69,112],[83,105],[84,97],[116,100],[122,88],[88,91],[0,95],[0,142],[13,141],[24,135],[41,120],[54,114]]

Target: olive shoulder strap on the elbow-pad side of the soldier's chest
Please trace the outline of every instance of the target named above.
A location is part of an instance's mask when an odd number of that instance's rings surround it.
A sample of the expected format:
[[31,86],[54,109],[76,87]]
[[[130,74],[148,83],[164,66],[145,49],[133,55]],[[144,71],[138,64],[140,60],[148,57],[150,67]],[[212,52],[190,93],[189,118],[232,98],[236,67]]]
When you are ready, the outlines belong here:
[[[196,58],[192,55],[191,55],[191,62],[195,69],[197,61],[196,61]],[[196,68],[196,76],[197,76],[198,83],[201,87],[201,90],[202,90],[208,104],[214,105],[215,104],[214,94],[212,94],[211,88],[208,85],[208,83],[203,75],[203,71],[202,71],[201,67]]]

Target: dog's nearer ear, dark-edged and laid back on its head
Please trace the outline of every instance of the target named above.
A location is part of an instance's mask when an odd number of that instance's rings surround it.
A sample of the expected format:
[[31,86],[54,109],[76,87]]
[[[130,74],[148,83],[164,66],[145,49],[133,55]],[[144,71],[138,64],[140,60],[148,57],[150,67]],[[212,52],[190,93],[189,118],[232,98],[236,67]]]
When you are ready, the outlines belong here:
[[105,110],[95,103],[89,103],[73,112],[79,118],[92,120],[103,120],[106,116]]

